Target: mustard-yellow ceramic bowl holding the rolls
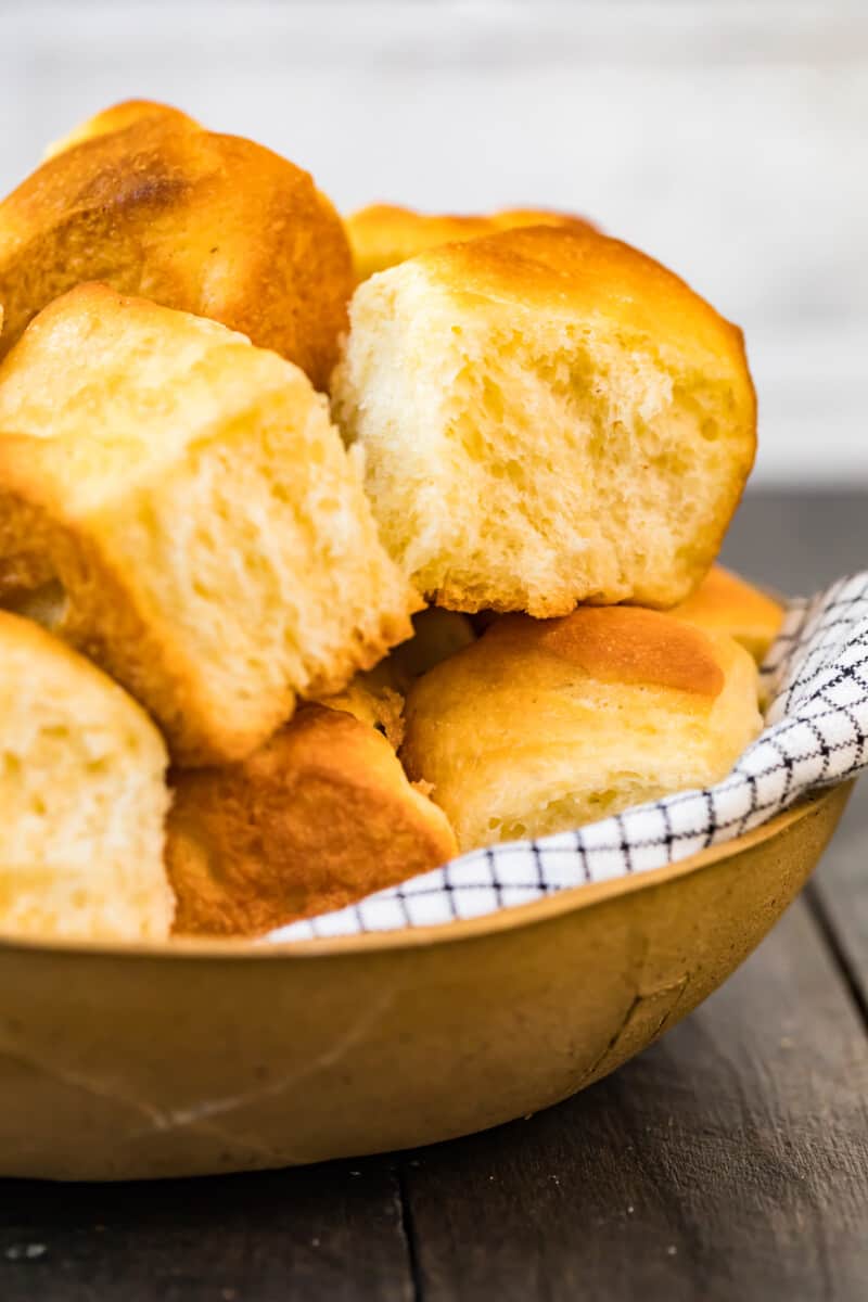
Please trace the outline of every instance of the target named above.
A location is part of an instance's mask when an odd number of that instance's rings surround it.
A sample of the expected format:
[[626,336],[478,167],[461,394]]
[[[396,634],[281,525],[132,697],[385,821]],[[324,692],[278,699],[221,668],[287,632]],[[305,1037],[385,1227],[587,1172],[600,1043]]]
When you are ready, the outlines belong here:
[[446,927],[275,947],[3,943],[0,1174],[282,1167],[557,1103],[742,962],[847,796],[673,867]]

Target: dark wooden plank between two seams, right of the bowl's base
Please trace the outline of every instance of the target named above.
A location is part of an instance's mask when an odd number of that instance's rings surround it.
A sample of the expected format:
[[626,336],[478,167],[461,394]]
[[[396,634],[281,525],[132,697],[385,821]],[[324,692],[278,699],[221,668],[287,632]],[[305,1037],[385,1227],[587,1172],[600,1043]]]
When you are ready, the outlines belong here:
[[432,1302],[861,1302],[868,1040],[806,905],[658,1046],[406,1185]]

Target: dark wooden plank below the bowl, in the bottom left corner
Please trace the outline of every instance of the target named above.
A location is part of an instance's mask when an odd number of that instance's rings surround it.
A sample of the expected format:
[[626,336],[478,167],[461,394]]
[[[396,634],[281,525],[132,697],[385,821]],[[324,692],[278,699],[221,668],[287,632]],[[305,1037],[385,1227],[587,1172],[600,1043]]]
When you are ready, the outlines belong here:
[[385,1160],[159,1185],[0,1182],[3,1302],[410,1302]]

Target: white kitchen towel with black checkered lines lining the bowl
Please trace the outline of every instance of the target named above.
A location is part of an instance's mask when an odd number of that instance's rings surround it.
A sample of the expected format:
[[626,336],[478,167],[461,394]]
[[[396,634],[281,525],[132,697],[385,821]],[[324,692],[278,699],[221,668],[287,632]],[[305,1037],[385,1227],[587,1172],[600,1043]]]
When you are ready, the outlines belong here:
[[267,939],[427,927],[648,872],[759,827],[816,786],[868,767],[868,570],[789,607],[761,676],[765,730],[716,786],[679,792],[539,841],[474,850]]

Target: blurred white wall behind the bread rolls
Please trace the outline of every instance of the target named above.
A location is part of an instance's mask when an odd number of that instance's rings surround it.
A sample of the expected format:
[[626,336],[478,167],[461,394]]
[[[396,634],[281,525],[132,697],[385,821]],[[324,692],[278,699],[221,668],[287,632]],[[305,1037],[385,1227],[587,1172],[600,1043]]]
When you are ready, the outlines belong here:
[[867,0],[0,0],[0,185],[118,99],[341,208],[599,220],[746,331],[757,483],[868,484]]

